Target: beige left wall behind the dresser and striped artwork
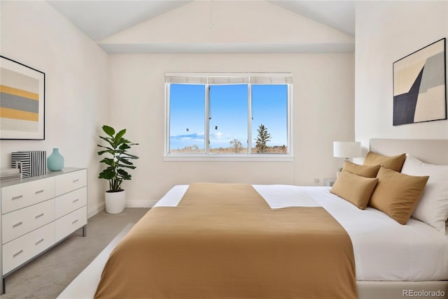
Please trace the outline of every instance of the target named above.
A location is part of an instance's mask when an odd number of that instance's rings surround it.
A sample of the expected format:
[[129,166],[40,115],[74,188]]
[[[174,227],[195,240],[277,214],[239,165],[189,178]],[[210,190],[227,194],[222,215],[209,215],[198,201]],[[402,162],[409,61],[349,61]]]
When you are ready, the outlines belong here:
[[108,117],[108,55],[46,1],[1,1],[1,55],[45,73],[45,140],[1,140],[10,152],[59,147],[65,166],[88,170],[88,214],[104,207],[97,136]]

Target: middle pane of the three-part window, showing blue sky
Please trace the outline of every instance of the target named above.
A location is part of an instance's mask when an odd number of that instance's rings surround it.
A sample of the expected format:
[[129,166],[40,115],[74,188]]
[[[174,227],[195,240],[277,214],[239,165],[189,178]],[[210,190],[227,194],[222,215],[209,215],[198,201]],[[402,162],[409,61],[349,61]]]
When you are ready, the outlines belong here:
[[210,85],[211,154],[247,153],[248,85]]

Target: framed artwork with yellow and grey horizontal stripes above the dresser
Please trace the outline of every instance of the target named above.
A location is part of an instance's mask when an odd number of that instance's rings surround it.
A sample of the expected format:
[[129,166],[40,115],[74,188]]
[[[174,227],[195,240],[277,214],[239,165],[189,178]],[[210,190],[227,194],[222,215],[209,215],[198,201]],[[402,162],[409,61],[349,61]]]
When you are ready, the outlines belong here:
[[45,139],[45,73],[3,56],[0,139]]

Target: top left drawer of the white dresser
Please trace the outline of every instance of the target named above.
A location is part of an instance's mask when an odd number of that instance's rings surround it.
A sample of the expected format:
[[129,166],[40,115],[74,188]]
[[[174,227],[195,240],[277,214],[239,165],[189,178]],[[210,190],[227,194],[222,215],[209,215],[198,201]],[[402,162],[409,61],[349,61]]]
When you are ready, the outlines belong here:
[[1,214],[34,205],[53,197],[55,197],[55,179],[52,177],[2,187]]

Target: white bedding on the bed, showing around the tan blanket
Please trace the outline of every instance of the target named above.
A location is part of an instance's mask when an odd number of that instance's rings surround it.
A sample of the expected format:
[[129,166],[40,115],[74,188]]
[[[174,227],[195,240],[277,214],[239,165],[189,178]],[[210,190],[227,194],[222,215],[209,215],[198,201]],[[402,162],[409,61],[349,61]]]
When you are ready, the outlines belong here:
[[[253,185],[267,204],[281,207],[322,206],[351,238],[357,280],[426,281],[448,279],[448,235],[416,219],[406,225],[379,210],[359,210],[330,193],[330,187]],[[188,185],[170,189],[154,207],[175,207]]]

